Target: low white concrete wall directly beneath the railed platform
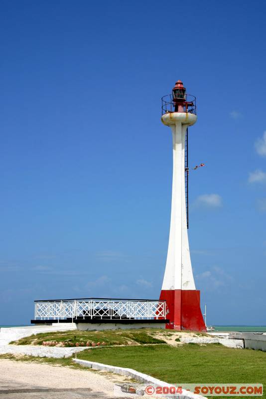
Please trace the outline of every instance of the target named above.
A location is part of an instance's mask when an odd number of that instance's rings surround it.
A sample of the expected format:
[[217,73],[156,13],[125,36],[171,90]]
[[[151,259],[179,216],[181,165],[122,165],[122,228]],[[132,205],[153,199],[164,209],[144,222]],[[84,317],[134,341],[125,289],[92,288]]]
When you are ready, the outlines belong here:
[[149,323],[148,321],[141,323],[77,323],[77,330],[93,331],[93,330],[129,330],[138,328],[165,328],[165,321],[161,323]]

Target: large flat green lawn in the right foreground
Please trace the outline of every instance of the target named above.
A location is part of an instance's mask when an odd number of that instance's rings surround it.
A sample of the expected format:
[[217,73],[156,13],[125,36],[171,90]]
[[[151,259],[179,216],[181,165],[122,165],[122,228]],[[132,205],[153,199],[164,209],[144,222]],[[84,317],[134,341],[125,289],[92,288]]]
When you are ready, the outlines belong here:
[[77,357],[132,368],[172,384],[262,383],[266,385],[265,352],[226,348],[219,344],[100,348],[80,352]]

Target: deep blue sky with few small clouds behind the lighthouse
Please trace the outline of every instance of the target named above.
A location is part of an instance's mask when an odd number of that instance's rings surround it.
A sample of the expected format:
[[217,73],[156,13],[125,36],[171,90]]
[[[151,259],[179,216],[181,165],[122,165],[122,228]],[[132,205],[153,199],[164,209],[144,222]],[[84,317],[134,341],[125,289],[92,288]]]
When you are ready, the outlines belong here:
[[212,324],[266,325],[264,1],[1,1],[0,324],[33,300],[158,298],[171,204],[160,97],[181,79],[189,239]]

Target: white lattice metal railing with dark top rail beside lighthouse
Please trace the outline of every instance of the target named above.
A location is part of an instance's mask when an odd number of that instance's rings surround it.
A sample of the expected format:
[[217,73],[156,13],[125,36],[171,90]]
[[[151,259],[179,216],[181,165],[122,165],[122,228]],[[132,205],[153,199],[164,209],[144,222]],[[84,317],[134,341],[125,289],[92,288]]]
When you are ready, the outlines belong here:
[[64,299],[35,301],[35,320],[165,319],[165,302],[131,299]]

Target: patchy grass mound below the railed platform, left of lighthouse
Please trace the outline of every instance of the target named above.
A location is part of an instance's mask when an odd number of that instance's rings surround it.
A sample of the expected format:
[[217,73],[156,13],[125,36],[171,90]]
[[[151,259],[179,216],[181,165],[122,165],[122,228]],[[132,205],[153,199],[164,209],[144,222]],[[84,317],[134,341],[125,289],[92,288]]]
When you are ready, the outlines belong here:
[[106,331],[59,331],[41,333],[10,342],[16,345],[42,345],[43,341],[67,341],[76,344],[87,341],[105,342],[107,345],[165,344],[163,339],[152,336],[152,329],[106,330]]

